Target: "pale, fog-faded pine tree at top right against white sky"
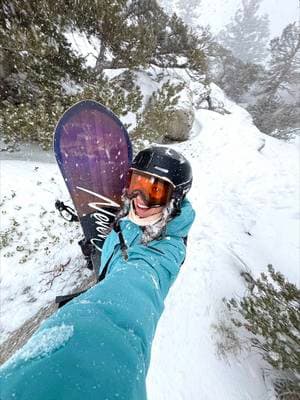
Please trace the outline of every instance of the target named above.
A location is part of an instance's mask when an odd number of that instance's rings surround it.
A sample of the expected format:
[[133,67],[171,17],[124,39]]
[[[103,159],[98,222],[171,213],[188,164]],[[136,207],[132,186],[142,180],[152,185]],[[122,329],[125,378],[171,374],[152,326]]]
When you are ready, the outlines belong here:
[[269,20],[267,15],[258,15],[261,1],[242,0],[234,18],[218,35],[224,47],[245,63],[260,63],[266,57]]

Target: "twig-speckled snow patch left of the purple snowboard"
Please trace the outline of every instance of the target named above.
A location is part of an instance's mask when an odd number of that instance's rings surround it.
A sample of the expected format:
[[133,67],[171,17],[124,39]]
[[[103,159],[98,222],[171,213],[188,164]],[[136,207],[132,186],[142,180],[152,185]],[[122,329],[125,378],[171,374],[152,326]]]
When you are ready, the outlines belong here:
[[77,245],[78,225],[54,207],[57,199],[69,199],[55,164],[1,161],[1,189],[0,343],[90,275]]

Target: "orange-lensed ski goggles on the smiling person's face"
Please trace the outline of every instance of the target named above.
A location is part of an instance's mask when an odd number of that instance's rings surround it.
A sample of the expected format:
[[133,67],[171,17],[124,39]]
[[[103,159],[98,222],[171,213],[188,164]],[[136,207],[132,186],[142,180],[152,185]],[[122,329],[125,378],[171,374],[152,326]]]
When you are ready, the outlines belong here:
[[129,171],[127,194],[133,198],[140,194],[148,207],[165,206],[171,200],[174,186],[158,176],[138,170]]

